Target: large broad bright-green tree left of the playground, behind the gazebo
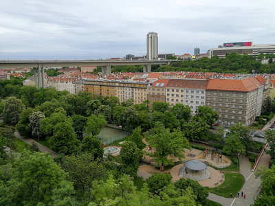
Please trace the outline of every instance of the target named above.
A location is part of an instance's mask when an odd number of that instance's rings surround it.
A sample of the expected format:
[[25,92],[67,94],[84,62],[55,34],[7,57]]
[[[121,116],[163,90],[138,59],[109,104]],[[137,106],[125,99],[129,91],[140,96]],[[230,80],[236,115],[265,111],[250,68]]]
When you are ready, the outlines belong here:
[[149,155],[154,157],[155,162],[167,165],[173,163],[168,159],[168,155],[173,155],[179,159],[184,158],[184,148],[190,148],[188,140],[184,137],[179,129],[170,133],[168,128],[163,124],[157,123],[154,128],[144,133],[148,146],[155,148]]

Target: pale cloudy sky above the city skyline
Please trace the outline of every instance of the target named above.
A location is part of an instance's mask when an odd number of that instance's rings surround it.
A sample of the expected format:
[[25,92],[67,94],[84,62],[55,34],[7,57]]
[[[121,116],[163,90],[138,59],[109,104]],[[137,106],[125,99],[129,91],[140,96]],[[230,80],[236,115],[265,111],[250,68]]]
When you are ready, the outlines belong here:
[[9,0],[0,6],[0,59],[98,59],[201,53],[222,43],[275,43],[275,1]]

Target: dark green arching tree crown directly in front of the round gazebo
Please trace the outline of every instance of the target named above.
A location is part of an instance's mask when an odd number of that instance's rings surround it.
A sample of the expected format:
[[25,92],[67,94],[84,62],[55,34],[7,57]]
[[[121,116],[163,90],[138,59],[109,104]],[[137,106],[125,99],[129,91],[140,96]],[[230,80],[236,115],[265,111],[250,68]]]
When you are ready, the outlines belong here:
[[179,179],[179,181],[175,182],[175,187],[177,188],[177,190],[181,190],[181,192],[184,192],[187,190],[188,187],[191,187],[192,192],[196,197],[195,199],[197,204],[206,205],[208,191],[206,190],[206,188],[201,186],[197,181],[193,181],[192,179],[181,178]]

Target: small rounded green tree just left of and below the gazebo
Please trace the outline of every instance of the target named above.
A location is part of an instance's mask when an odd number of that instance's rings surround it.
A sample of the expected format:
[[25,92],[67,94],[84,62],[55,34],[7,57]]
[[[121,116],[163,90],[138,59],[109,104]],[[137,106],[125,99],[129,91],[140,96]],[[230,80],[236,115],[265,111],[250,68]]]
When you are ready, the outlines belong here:
[[164,187],[171,183],[172,176],[170,173],[152,174],[146,179],[148,189],[151,193],[159,195],[159,192],[164,190]]

